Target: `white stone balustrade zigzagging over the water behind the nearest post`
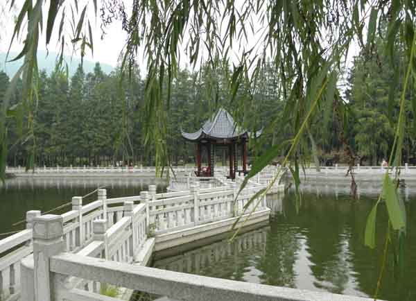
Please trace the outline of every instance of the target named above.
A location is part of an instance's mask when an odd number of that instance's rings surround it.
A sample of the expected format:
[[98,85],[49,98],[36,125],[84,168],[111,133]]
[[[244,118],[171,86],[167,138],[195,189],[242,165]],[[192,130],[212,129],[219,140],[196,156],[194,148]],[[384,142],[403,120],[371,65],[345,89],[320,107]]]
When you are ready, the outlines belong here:
[[[264,187],[263,184],[250,183],[236,197],[239,184],[235,182],[218,178],[219,184],[213,185],[212,182],[199,180],[189,178],[189,190],[157,193],[156,187],[150,185],[149,191],[141,191],[140,196],[121,198],[107,199],[107,191],[99,189],[98,199],[86,205],[81,197],[73,197],[71,210],[60,216],[48,215],[45,218],[38,211],[27,212],[28,230],[0,241],[0,253],[6,254],[0,258],[1,300],[19,298],[19,288],[23,284],[33,288],[28,289],[32,293],[22,295],[22,300],[33,300],[35,296],[35,286],[31,284],[34,276],[28,276],[33,273],[33,268],[31,272],[30,265],[26,266],[26,277],[19,277],[21,261],[33,252],[31,241],[35,238],[32,235],[35,221],[43,223],[45,227],[49,222],[62,221],[59,241],[65,252],[125,264],[146,264],[154,249],[163,250],[195,241],[200,237],[199,230],[202,231],[202,236],[228,231],[235,216],[254,209],[254,203],[247,206],[248,208],[245,206]],[[261,203],[255,212],[258,214],[252,218],[251,224],[266,221],[270,209]],[[149,237],[149,234],[155,238]],[[39,236],[36,239],[40,242],[42,238]],[[51,237],[46,241],[48,239]],[[54,245],[57,241],[50,243]],[[29,261],[30,258],[26,257]],[[71,282],[73,289],[83,289],[89,293],[99,290],[100,281],[79,275],[72,276],[73,279],[78,279]],[[44,291],[39,294],[44,294]]]

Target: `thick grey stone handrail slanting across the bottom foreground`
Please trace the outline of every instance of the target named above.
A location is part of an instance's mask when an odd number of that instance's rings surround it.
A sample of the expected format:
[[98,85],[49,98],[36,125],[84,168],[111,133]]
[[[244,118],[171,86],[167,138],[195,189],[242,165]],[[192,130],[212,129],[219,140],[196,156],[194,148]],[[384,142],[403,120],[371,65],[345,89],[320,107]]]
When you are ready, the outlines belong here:
[[[55,239],[56,240],[56,239]],[[199,275],[177,273],[144,266],[135,266],[114,261],[84,257],[64,252],[55,252],[43,261],[35,258],[33,275],[35,286],[27,286],[23,300],[67,300],[98,301],[119,299],[71,288],[68,277],[90,279],[157,295],[167,295],[177,300],[257,300],[257,301],[370,301],[370,298],[337,295],[285,287],[268,286]],[[26,264],[23,277],[31,275]],[[46,270],[42,270],[46,268]],[[40,289],[42,286],[43,289]],[[53,286],[53,290],[51,290]]]

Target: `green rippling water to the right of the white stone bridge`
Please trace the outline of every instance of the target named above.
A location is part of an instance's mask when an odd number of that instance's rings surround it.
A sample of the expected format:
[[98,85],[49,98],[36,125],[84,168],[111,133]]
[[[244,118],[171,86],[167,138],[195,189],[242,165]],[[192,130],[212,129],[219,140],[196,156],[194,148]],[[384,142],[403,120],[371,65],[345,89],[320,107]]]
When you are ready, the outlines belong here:
[[[377,186],[377,185],[376,185]],[[348,186],[306,185],[299,212],[295,196],[268,200],[274,216],[267,227],[164,259],[154,266],[185,273],[288,286],[346,295],[372,296],[387,227],[385,207],[378,212],[376,250],[363,245],[367,214],[376,189],[362,187],[359,200],[348,196]],[[395,275],[388,255],[379,298],[416,300],[416,195],[406,191],[407,236],[404,275]]]

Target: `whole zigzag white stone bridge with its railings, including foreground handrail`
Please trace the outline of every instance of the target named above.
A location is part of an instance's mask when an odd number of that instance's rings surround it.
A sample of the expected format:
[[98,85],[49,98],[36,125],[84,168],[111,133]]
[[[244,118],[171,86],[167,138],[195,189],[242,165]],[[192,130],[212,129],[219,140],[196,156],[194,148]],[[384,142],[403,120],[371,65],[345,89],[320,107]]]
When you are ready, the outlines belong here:
[[[266,169],[239,196],[242,178],[218,176],[172,181],[166,193],[150,185],[123,198],[107,199],[99,189],[98,200],[83,205],[73,197],[71,211],[61,215],[29,211],[26,230],[0,241],[1,300],[116,301],[134,290],[176,300],[370,300],[146,267],[155,251],[228,232],[234,223],[267,223],[266,196],[248,202],[275,172]],[[284,189],[277,182],[272,188]],[[101,295],[103,284],[121,294]]]

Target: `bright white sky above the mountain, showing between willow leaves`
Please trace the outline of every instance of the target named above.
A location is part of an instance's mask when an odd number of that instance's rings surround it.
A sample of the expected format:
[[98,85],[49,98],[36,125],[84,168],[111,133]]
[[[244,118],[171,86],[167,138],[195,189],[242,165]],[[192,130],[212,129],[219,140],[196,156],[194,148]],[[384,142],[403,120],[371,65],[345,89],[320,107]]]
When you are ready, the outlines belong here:
[[[8,1],[8,0],[0,0],[0,1]],[[94,6],[92,5],[91,0],[90,1],[78,0],[78,2],[79,2],[78,6],[80,10],[82,10],[82,8],[85,6],[85,3],[88,3],[87,16],[89,16],[90,20],[92,21],[91,25],[92,25],[92,33],[93,33],[93,40],[94,40],[94,56],[92,55],[91,51],[88,49],[85,59],[91,60],[93,62],[98,61],[98,62],[107,63],[108,65],[112,65],[113,67],[116,67],[119,54],[121,53],[123,46],[125,45],[125,41],[127,37],[125,31],[123,31],[121,28],[121,22],[119,20],[115,20],[109,27],[105,28],[106,34],[104,35],[104,38],[101,39],[102,30],[101,30],[101,19],[99,17],[99,12],[98,12],[98,16],[95,17]],[[126,10],[130,11],[131,6],[132,6],[132,0],[125,0],[123,2],[125,4]],[[8,46],[10,44],[10,40],[12,37],[12,31],[14,28],[13,16],[17,15],[17,13],[19,12],[19,8],[21,7],[21,3],[23,3],[23,0],[16,0],[16,3],[17,3],[16,4],[17,8],[15,10],[8,12],[6,16],[0,15],[0,18],[3,17],[3,20],[0,20],[0,26],[1,26],[0,27],[0,51],[1,52],[6,52],[8,50]],[[102,3],[101,1],[98,1],[98,10],[101,6],[101,3]],[[49,6],[44,6],[44,24],[46,24],[46,16],[47,16],[48,7]],[[55,22],[59,24],[60,14],[57,17],[57,20],[58,21],[55,21]],[[64,31],[69,31],[69,30],[70,30],[69,24],[66,24],[66,26],[64,26]],[[58,28],[54,28],[52,39],[51,39],[51,44],[47,47],[47,49],[46,49],[45,31],[42,33],[42,37],[40,39],[40,44],[39,44],[40,50],[49,50],[51,52],[58,53],[60,49],[60,44],[57,43],[58,33],[56,31],[58,31]],[[252,40],[254,41],[254,38],[249,37],[248,40],[250,40],[251,42]],[[23,44],[21,43],[21,41],[16,41],[15,43],[12,44],[11,51],[19,52],[21,51],[22,46]],[[247,49],[249,48],[249,46],[250,45],[246,45]],[[237,51],[240,51],[240,50],[241,49]],[[349,51],[349,55],[347,58],[347,65],[349,66],[351,65],[352,58],[354,57],[354,55],[358,54],[358,51],[359,51],[358,45],[353,44]],[[139,51],[139,55],[137,58],[139,67],[146,66],[146,61],[144,60],[142,53],[143,53],[143,50]],[[67,49],[65,50],[65,55],[71,55],[71,54],[72,54],[72,49],[70,46],[68,46]],[[78,55],[78,54],[75,54],[75,55]],[[180,67],[185,67],[187,60],[184,59],[184,55],[181,55],[181,56],[182,56],[182,60],[181,60]],[[236,62],[238,55],[234,53],[232,54],[232,56],[233,56],[232,61]],[[140,69],[143,74],[146,74],[146,68],[141,67]]]

